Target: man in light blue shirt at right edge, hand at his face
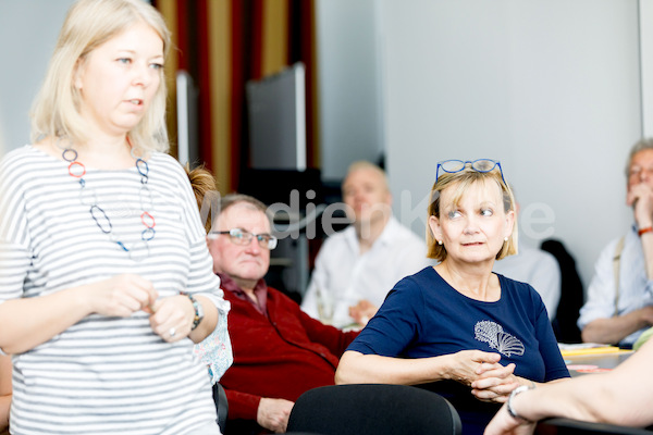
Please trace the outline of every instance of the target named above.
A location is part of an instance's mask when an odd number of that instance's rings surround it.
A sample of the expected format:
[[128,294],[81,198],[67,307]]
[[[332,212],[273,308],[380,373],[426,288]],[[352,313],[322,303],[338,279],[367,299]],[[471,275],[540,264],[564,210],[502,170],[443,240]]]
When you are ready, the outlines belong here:
[[629,347],[653,325],[653,138],[634,144],[626,177],[634,224],[601,252],[578,326],[583,341]]

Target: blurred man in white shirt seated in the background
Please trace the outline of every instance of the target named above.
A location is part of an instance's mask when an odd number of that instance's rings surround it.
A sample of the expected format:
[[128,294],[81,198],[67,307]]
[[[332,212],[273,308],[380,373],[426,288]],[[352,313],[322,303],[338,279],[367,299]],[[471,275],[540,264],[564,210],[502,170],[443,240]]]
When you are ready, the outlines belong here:
[[332,304],[331,323],[337,327],[366,324],[401,278],[432,265],[423,239],[392,215],[392,195],[379,166],[353,163],[342,190],[354,223],[322,245],[301,303],[316,319],[319,303]]

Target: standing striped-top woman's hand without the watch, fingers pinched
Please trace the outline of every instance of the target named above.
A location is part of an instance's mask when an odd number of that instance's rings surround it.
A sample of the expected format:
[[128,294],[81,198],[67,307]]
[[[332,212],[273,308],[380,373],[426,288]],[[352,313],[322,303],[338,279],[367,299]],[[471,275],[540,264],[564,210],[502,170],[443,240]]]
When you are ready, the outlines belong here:
[[158,297],[150,281],[134,274],[116,275],[91,288],[86,293],[91,312],[108,316],[128,318],[136,311],[148,311]]

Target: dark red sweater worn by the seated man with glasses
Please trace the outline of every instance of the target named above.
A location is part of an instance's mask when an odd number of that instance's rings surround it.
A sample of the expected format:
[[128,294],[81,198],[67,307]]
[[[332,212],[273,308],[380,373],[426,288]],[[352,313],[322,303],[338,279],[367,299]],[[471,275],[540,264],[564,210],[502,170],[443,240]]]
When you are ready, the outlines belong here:
[[268,316],[233,291],[229,334],[234,363],[220,380],[229,419],[255,420],[261,397],[295,401],[334,384],[338,359],[358,333],[343,333],[310,318],[291,298],[268,287]]

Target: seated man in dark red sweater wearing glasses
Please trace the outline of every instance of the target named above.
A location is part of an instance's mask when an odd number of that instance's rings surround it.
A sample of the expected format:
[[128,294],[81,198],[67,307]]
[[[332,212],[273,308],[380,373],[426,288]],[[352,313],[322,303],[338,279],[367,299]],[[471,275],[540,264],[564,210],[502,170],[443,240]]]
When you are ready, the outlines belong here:
[[263,276],[276,238],[262,202],[227,195],[218,213],[207,245],[232,304],[234,362],[220,381],[229,402],[226,433],[285,432],[294,401],[333,385],[338,359],[357,334],[323,325],[268,287]]

